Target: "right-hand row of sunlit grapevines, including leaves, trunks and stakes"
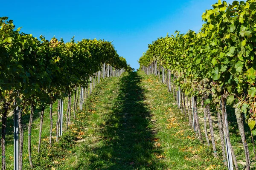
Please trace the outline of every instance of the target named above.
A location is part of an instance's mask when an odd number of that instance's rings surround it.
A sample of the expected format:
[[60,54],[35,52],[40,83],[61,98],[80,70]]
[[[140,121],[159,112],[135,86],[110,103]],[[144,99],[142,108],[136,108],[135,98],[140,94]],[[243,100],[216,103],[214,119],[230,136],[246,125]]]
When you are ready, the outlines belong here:
[[[249,170],[244,122],[250,127],[253,142],[253,136],[256,136],[256,1],[227,4],[219,0],[212,7],[202,15],[204,24],[198,33],[189,30],[180,34],[176,31],[174,35],[167,34],[148,45],[148,50],[139,60],[140,69],[159,76],[162,70],[163,82],[176,95],[177,105],[185,116],[189,114],[189,124],[204,142],[197,113],[200,102],[204,108],[205,141],[207,144],[212,141],[215,157],[218,154],[212,115],[218,117],[224,164],[229,169],[234,165],[238,170],[229,137],[226,104],[233,107],[244,147],[246,169]],[[206,129],[207,117],[211,139]],[[230,153],[233,163],[227,159]]]

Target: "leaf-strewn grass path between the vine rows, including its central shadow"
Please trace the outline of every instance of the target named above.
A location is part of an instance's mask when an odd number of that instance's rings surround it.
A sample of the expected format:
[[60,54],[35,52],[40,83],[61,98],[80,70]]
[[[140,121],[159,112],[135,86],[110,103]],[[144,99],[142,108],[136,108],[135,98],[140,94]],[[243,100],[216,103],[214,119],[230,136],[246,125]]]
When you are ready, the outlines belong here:
[[103,81],[71,128],[79,140],[53,169],[225,169],[173,101],[156,77],[142,72]]

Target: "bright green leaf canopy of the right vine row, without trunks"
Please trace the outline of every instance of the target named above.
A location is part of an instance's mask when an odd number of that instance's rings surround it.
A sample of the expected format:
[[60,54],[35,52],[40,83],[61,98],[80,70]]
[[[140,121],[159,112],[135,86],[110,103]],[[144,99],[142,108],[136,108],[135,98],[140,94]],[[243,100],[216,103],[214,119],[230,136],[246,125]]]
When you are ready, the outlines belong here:
[[197,34],[176,31],[158,38],[148,45],[140,67],[157,61],[172,71],[186,94],[212,93],[215,107],[225,94],[227,104],[243,101],[239,107],[246,119],[256,120],[255,6],[255,0],[232,4],[219,0],[202,15],[205,23]]

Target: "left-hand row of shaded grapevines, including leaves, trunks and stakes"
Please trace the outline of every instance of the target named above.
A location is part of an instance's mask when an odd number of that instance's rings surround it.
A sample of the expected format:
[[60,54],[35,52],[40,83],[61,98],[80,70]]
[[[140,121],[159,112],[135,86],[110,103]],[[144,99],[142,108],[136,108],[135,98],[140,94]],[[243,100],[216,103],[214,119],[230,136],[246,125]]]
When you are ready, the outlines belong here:
[[[12,20],[0,17],[0,113],[2,116],[2,170],[6,169],[6,125],[7,114],[14,111],[18,123],[18,162],[15,169],[22,170],[23,162],[23,121],[30,114],[28,125],[29,164],[31,156],[31,129],[35,109],[40,109],[41,122],[38,139],[40,152],[41,132],[45,107],[50,107],[49,147],[52,147],[52,105],[58,101],[56,141],[61,121],[61,99],[68,97],[66,128],[70,125],[71,99],[74,96],[73,115],[76,119],[76,106],[82,109],[83,99],[90,94],[100,78],[117,77],[130,71],[125,58],[119,57],[111,42],[83,39],[75,42],[46,40],[15,29]],[[90,91],[88,92],[88,89]],[[78,92],[80,91],[80,97]],[[85,94],[85,95],[84,95]],[[80,100],[78,101],[78,98]],[[15,136],[14,136],[15,137]],[[16,164],[16,165],[17,165]]]

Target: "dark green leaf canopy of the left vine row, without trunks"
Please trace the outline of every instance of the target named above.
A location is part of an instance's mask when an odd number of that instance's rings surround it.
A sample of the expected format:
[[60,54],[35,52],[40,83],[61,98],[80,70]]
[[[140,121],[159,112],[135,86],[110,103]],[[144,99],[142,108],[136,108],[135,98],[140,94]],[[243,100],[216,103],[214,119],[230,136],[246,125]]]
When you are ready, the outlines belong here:
[[[34,105],[49,104],[73,92],[74,87],[86,87],[90,77],[102,63],[114,69],[128,68],[111,42],[83,39],[75,42],[53,37],[40,40],[32,34],[15,30],[13,21],[0,17],[0,102],[12,102],[24,111]],[[11,94],[11,95],[10,95]],[[3,105],[1,103],[1,105]],[[3,108],[1,108],[3,109]],[[1,110],[2,112],[2,110]]]

